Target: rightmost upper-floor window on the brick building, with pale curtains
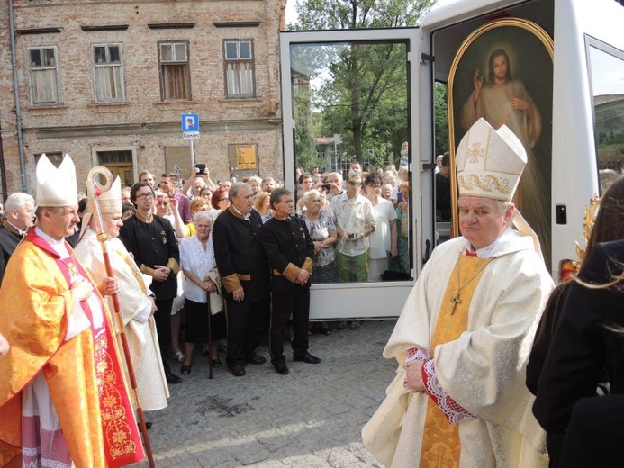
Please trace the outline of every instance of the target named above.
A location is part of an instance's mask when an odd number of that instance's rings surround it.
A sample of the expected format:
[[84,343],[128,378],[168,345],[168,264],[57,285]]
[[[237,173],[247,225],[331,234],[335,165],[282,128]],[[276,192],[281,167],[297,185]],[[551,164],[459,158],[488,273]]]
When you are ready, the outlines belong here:
[[224,40],[223,48],[228,97],[253,97],[254,63],[251,40]]

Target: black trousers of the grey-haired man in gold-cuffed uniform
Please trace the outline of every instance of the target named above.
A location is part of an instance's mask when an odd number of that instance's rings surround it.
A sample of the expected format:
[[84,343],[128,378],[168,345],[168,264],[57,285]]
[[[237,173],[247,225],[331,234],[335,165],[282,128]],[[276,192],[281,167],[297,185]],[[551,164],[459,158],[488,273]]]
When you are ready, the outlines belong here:
[[226,298],[228,325],[228,366],[245,365],[256,354],[256,347],[267,317],[268,301],[234,301]]

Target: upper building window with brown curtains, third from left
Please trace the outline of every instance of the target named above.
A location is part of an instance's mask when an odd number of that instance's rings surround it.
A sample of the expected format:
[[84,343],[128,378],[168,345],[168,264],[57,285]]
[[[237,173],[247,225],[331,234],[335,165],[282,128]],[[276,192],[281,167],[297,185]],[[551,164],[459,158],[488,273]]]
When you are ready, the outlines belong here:
[[159,42],[160,83],[163,101],[191,99],[188,42]]

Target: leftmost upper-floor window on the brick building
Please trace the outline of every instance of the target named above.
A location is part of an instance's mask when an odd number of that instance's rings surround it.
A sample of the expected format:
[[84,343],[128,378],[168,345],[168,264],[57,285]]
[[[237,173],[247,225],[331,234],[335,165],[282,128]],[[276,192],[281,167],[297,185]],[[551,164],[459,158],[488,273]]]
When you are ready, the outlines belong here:
[[32,104],[59,103],[59,70],[56,47],[28,49]]

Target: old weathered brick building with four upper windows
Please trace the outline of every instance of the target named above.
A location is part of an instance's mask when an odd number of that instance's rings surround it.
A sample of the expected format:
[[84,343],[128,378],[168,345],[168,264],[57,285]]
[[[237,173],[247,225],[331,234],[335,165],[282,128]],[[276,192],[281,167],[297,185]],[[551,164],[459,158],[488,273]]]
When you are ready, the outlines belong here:
[[41,153],[68,153],[79,189],[99,164],[125,184],[185,177],[183,113],[199,115],[195,162],[213,181],[281,178],[285,2],[0,0],[1,198],[33,192]]

